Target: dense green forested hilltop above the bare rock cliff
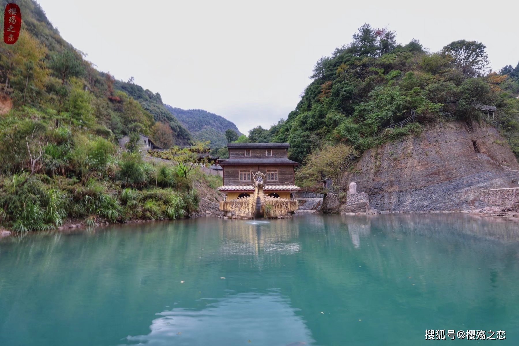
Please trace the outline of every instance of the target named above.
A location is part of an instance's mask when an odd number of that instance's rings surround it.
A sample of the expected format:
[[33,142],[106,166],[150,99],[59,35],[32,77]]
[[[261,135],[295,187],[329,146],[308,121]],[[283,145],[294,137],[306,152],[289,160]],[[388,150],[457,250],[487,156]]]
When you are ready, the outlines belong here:
[[[482,43],[461,39],[428,52],[418,40],[401,45],[395,37],[386,29],[360,27],[351,43],[316,63],[313,81],[288,119],[269,130],[253,129],[249,140],[289,142],[291,159],[302,162],[328,144],[363,151],[424,124],[459,119],[469,127],[473,121],[492,124],[519,156],[519,57],[489,73]],[[496,106],[494,117],[481,104]],[[377,135],[412,110],[418,122]]]

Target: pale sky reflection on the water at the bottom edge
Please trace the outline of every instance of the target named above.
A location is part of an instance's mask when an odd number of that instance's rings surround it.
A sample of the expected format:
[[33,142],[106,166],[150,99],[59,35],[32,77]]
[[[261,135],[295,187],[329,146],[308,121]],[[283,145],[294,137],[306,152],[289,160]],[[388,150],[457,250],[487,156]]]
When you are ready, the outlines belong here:
[[152,321],[149,334],[126,339],[149,346],[240,345],[248,340],[271,346],[313,343],[297,309],[289,304],[290,299],[277,292],[228,294],[203,310],[175,308],[157,313],[160,317]]

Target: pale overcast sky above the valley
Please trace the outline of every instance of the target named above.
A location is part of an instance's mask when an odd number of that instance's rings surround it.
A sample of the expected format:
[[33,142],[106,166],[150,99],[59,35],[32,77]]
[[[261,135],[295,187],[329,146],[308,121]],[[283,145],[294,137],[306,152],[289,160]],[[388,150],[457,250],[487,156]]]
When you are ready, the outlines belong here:
[[[458,39],[487,46],[495,71],[519,62],[519,2],[39,0],[98,70],[162,101],[221,115],[247,133],[285,118],[313,65],[370,23],[430,51]],[[22,9],[23,11],[23,9]],[[22,12],[23,13],[23,12]]]

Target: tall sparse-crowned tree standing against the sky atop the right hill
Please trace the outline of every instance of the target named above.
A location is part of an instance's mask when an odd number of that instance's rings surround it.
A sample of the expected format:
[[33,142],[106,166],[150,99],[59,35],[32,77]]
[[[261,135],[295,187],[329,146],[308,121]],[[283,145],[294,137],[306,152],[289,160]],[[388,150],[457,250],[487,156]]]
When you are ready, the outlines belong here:
[[489,72],[487,66],[490,62],[485,49],[482,43],[460,39],[443,47],[442,52],[452,56],[455,66],[466,77],[472,78]]

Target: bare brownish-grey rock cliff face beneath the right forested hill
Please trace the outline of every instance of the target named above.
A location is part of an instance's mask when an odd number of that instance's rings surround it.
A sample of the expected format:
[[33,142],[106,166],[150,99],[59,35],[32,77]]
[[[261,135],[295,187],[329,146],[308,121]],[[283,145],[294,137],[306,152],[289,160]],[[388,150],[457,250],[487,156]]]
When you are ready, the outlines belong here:
[[495,128],[444,122],[366,151],[346,179],[379,211],[461,211],[485,206],[484,189],[517,187],[519,164]]

